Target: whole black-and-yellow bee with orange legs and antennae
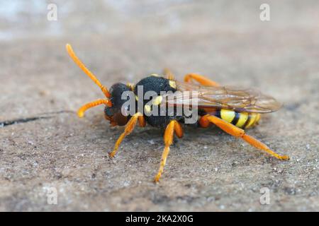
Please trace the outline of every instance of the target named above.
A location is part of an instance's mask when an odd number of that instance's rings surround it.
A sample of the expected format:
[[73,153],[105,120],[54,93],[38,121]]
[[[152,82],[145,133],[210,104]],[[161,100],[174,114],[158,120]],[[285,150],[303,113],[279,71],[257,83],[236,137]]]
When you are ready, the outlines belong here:
[[[273,97],[263,95],[253,89],[220,86],[218,83],[196,73],[187,74],[184,77],[184,82],[179,82],[174,80],[174,76],[169,71],[166,71],[165,77],[152,74],[143,78],[135,85],[116,83],[108,90],[99,82],[96,76],[84,66],[82,61],[74,54],[72,47],[69,44],[67,44],[66,47],[69,56],[79,68],[101,88],[106,96],[104,99],[89,102],[79,108],[77,112],[78,116],[83,117],[84,112],[91,107],[106,105],[104,114],[111,125],[125,126],[123,133],[115,143],[113,151],[109,153],[110,157],[116,155],[123,138],[133,131],[137,123],[142,127],[146,124],[150,124],[150,126],[164,130],[165,146],[159,164],[159,170],[154,179],[155,182],[158,182],[162,175],[167,155],[169,154],[169,146],[173,143],[174,135],[178,138],[183,136],[181,124],[185,124],[186,120],[189,119],[189,116],[186,116],[184,112],[177,114],[176,109],[179,105],[189,105],[191,111],[198,113],[198,119],[196,119],[193,124],[203,128],[215,124],[226,133],[237,138],[242,138],[255,148],[264,150],[279,160],[289,160],[288,155],[275,153],[268,148],[267,145],[245,133],[245,129],[249,129],[258,123],[262,114],[274,112],[281,107],[281,104]],[[194,81],[198,84],[195,84]],[[140,95],[138,95],[139,87],[142,87],[143,97],[150,91],[156,93],[157,97],[153,97],[149,102],[144,99],[140,100]],[[184,92],[193,91],[196,92],[196,95],[182,95]],[[127,101],[125,98],[123,100],[123,93],[125,92],[133,93],[133,95],[135,95],[134,102],[136,105],[142,106],[137,107],[133,114],[125,114],[125,109],[130,110],[127,107],[123,107]],[[166,94],[162,95],[163,92]],[[179,94],[176,95],[176,93]],[[169,98],[173,95],[174,98]],[[196,105],[187,104],[191,102],[195,96]],[[173,112],[170,112],[172,114],[168,114],[168,112],[164,115],[147,114],[150,113],[154,107],[160,106],[173,107]]]

